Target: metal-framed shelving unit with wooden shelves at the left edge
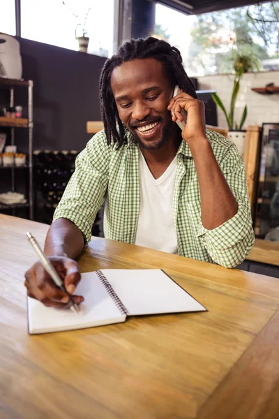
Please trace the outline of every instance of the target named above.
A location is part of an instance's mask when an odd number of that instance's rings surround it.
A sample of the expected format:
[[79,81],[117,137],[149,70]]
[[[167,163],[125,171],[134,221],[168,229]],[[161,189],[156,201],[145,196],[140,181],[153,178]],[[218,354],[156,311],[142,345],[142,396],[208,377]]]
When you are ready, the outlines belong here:
[[2,166],[0,169],[11,171],[11,190],[15,191],[15,170],[28,169],[29,171],[29,186],[27,203],[5,205],[0,204],[0,210],[15,210],[17,208],[29,208],[29,218],[33,219],[33,81],[32,80],[13,80],[8,78],[0,78],[0,89],[10,90],[10,106],[14,106],[15,89],[25,88],[28,89],[28,118],[8,118],[0,117],[0,127],[10,128],[10,144],[15,145],[15,128],[28,129],[28,164],[24,166]]

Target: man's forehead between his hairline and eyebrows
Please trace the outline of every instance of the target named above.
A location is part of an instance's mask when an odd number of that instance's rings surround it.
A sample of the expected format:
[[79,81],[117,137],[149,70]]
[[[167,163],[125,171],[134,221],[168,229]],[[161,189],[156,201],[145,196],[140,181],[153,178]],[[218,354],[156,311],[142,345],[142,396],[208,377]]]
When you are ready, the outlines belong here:
[[114,68],[111,86],[114,96],[128,87],[146,88],[149,85],[165,87],[169,80],[163,74],[162,64],[154,58],[134,59]]

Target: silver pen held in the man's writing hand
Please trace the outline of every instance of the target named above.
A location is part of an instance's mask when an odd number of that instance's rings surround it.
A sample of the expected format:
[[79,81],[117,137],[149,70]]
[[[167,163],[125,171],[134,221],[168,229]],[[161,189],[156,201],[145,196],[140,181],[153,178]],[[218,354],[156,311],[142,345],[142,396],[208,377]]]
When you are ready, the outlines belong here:
[[72,295],[70,295],[68,291],[66,291],[63,281],[59,277],[59,274],[57,274],[56,270],[54,269],[54,266],[50,262],[50,259],[48,259],[47,256],[45,256],[45,253],[43,253],[43,250],[40,249],[38,242],[33,237],[33,235],[31,235],[31,233],[27,233],[27,237],[28,237],[29,243],[31,244],[33,249],[36,251],[38,258],[40,259],[40,263],[43,265],[47,273],[50,275],[50,277],[54,281],[54,284],[56,284],[56,286],[58,286],[61,289],[61,291],[68,294],[68,296],[70,297],[70,300],[69,300],[70,309],[74,311],[75,313],[78,313],[80,310],[77,307],[77,304],[75,304],[75,302],[73,301]]

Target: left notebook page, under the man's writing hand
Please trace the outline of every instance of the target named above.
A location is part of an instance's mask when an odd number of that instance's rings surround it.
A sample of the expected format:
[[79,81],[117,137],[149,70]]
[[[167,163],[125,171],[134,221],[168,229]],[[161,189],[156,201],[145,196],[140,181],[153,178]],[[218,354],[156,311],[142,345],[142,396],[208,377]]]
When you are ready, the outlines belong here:
[[29,333],[92,328],[126,320],[94,272],[82,274],[75,294],[84,296],[79,314],[70,309],[45,307],[41,302],[28,297]]

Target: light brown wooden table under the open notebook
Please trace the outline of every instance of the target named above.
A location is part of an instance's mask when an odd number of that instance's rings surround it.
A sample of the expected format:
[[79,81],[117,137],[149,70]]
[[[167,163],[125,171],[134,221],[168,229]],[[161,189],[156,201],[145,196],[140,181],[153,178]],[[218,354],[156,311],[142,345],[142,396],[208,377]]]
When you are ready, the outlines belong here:
[[0,215],[1,419],[278,419],[278,279],[93,239],[82,272],[163,268],[209,311],[29,336],[27,230]]

